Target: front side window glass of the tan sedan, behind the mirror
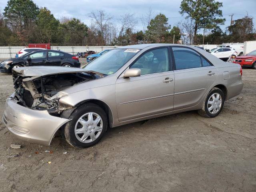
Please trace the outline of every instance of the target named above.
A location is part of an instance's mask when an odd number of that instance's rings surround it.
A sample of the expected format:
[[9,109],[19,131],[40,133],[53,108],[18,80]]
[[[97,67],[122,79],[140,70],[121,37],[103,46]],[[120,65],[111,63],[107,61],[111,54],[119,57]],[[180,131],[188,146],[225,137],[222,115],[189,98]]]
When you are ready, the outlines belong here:
[[169,71],[168,49],[159,48],[143,54],[130,68],[139,68],[141,75]]

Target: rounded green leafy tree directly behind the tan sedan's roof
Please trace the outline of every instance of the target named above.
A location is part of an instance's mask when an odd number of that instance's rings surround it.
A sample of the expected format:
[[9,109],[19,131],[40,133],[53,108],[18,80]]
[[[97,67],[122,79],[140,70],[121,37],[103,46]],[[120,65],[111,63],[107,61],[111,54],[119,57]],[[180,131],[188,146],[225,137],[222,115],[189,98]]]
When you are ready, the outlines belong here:
[[146,37],[148,38],[148,41],[160,43],[164,41],[164,36],[171,26],[168,24],[168,18],[164,14],[160,13],[150,21],[147,28]]

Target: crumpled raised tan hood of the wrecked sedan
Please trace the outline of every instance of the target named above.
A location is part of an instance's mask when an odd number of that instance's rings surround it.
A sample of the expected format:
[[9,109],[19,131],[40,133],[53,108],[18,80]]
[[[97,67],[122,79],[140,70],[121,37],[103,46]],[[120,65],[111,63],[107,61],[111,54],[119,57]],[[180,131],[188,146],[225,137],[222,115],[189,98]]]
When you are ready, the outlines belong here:
[[14,73],[23,77],[31,77],[31,76],[46,76],[46,75],[54,75],[61,73],[76,73],[76,72],[86,72],[86,73],[95,73],[102,75],[97,72],[88,71],[82,68],[75,67],[61,67],[61,66],[31,66],[31,67],[19,67],[13,69]]

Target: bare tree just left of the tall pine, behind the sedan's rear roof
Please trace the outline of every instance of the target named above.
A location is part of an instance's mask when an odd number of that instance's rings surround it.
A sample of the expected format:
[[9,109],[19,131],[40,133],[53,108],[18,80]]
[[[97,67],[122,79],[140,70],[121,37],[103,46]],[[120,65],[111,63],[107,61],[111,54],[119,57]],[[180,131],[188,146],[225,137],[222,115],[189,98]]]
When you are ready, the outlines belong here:
[[192,45],[194,39],[194,21],[192,19],[186,19],[176,24],[180,29],[182,43],[186,45]]

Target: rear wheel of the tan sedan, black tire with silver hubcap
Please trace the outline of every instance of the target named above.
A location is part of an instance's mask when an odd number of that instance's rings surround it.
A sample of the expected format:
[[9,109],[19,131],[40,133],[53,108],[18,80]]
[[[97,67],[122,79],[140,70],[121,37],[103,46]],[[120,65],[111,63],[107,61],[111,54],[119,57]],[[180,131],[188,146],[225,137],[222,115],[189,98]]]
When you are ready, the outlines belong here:
[[[217,94],[219,95],[219,98],[221,100],[217,101]],[[212,95],[214,95],[216,97],[216,101],[213,100]],[[206,100],[204,102],[204,105],[202,107],[202,109],[198,110],[198,114],[200,114],[203,117],[207,117],[207,118],[214,118],[216,116],[218,116],[218,114],[220,114],[220,112],[222,111],[223,105],[224,105],[224,93],[222,92],[222,90],[220,90],[219,88],[212,88],[210,90],[210,92],[208,93]],[[213,104],[210,104],[212,103]],[[211,109],[211,106],[213,107],[213,109]],[[209,108],[211,110],[209,110]],[[214,110],[216,109],[216,111],[214,112]]]

